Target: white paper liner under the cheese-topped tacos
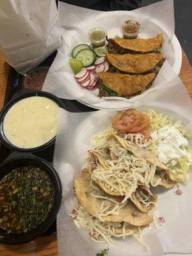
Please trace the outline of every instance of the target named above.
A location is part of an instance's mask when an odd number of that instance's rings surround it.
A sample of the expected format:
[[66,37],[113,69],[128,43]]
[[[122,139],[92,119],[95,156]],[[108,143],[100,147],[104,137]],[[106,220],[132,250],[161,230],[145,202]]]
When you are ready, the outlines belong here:
[[[181,120],[192,131],[192,104],[179,77],[175,77],[165,88],[154,92],[150,100],[143,100],[141,110],[155,109],[174,120]],[[116,240],[113,246],[96,244],[90,240],[86,230],[79,230],[67,214],[73,209],[74,177],[86,164],[86,154],[92,136],[109,127],[115,111],[96,111],[92,113],[69,113],[61,109],[60,125],[54,152],[54,167],[58,171],[63,200],[58,213],[58,247],[61,256],[93,256],[103,248],[109,247],[109,255],[116,256],[163,256],[172,253],[192,253],[192,177],[187,186],[181,186],[182,195],[175,194],[175,188],[159,195],[157,215],[164,216],[162,228],[144,230],[144,241],[150,250],[145,251],[131,237]],[[190,143],[192,152],[192,143]]]

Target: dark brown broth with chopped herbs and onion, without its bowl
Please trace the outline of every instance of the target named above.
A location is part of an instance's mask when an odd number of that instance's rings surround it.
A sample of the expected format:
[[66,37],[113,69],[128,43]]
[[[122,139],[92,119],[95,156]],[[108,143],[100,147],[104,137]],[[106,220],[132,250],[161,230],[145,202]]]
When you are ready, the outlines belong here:
[[44,170],[22,166],[0,180],[0,227],[14,234],[26,233],[49,215],[55,189]]

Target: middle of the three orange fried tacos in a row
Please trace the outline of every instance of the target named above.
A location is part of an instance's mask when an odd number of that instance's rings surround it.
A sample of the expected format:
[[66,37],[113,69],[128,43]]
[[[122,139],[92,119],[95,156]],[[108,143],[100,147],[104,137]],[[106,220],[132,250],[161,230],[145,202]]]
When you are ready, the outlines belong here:
[[109,72],[125,74],[158,73],[164,63],[161,53],[147,54],[106,54]]

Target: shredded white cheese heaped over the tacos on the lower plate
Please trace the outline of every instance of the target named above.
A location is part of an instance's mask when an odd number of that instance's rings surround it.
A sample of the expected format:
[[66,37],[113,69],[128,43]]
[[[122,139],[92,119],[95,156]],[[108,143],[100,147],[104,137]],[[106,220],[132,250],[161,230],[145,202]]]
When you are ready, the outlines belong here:
[[[106,189],[114,193],[113,195],[125,196],[120,203],[124,204],[127,199],[132,198],[132,193],[136,192],[138,184],[144,184],[147,188],[150,185],[156,187],[161,182],[161,177],[155,181],[156,166],[148,163],[145,159],[134,156],[131,152],[121,147],[117,141],[108,141],[110,135],[111,133],[104,131],[103,134],[98,134],[100,140],[97,139],[97,136],[92,140],[90,154],[95,152],[104,156],[104,163],[100,163],[95,157],[97,161],[95,160],[91,179],[102,183]],[[130,137],[127,134],[125,138],[131,138],[131,140],[134,138],[136,140],[136,134],[132,135]],[[140,145],[143,137],[141,134],[138,135],[140,140],[137,139],[137,143]],[[146,145],[142,147],[144,146]],[[104,165],[106,168],[104,168]],[[141,196],[138,197],[138,200],[143,203]],[[145,207],[145,204],[143,205]]]

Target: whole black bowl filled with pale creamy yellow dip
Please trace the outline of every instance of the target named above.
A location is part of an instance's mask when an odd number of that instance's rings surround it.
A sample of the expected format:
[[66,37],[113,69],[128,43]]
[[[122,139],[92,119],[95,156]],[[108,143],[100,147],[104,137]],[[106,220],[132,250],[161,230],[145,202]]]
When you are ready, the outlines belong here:
[[44,150],[55,141],[57,111],[63,107],[62,100],[51,93],[20,93],[1,110],[0,140],[14,151]]

